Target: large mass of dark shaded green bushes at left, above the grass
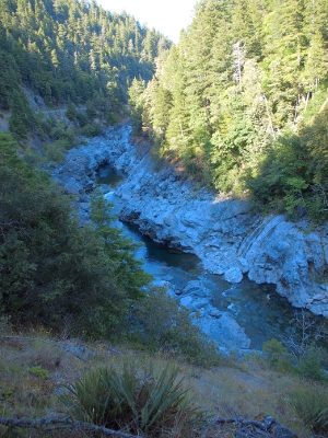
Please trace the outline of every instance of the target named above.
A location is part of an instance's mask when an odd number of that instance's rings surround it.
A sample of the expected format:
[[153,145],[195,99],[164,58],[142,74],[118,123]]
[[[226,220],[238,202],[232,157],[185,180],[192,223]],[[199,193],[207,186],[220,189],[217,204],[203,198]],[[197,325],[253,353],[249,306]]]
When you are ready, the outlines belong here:
[[149,276],[136,246],[110,227],[102,200],[94,203],[97,230],[80,228],[68,197],[1,132],[0,184],[1,311],[55,328],[73,318],[87,336],[124,336]]

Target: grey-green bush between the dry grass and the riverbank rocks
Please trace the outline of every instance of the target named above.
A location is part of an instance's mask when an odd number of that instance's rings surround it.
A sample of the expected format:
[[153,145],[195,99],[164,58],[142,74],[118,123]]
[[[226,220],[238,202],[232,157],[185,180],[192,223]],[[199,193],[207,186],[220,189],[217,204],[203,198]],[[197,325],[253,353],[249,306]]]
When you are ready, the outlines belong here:
[[164,288],[150,288],[134,309],[134,318],[132,339],[139,345],[175,354],[196,365],[222,361],[214,343],[191,323],[190,311],[179,308]]

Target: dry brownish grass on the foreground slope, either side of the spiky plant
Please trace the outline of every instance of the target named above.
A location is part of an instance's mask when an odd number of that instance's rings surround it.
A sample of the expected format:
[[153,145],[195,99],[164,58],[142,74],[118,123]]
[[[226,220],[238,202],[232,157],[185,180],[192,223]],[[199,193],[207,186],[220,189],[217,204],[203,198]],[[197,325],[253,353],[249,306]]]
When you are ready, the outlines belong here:
[[[33,341],[36,336],[43,341]],[[132,362],[140,364],[147,364],[150,359],[140,351],[113,349],[102,343],[85,345],[79,341],[57,342],[45,333],[0,337],[0,416],[65,416],[66,406],[58,400],[65,384],[73,383],[82,372],[97,366],[112,365],[121,369],[122,362],[129,358]],[[156,367],[165,367],[165,358],[152,355],[151,359]],[[312,437],[311,430],[302,425],[289,402],[289,394],[302,389],[306,384],[304,381],[272,371],[256,358],[245,359],[237,366],[212,369],[186,364],[178,366],[180,376],[185,377],[185,384],[190,388],[195,404],[206,408],[213,418],[256,419],[266,414],[277,418],[300,438]],[[47,370],[48,377],[31,373],[31,367]],[[5,428],[0,428],[0,436],[4,433]],[[42,434],[33,433],[33,436]],[[63,437],[65,434],[59,436]],[[80,435],[77,433],[68,436]],[[231,437],[232,426],[209,427],[206,436]]]

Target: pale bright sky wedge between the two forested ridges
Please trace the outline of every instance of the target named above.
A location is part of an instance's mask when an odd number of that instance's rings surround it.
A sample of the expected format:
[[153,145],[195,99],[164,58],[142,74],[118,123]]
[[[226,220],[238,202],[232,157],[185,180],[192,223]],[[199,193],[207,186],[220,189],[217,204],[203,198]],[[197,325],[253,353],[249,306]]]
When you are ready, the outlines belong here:
[[174,43],[178,43],[181,28],[192,21],[197,0],[98,0],[109,12],[124,10],[133,15],[141,25],[155,28]]

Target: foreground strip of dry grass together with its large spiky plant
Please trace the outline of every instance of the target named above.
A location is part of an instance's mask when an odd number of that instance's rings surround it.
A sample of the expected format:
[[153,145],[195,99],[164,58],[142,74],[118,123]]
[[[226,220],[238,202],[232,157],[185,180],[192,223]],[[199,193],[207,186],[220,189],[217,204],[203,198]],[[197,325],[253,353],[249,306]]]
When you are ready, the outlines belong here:
[[[3,328],[1,417],[71,415],[130,434],[196,438],[203,433],[202,427],[196,426],[204,418],[204,412],[213,418],[258,418],[268,414],[300,438],[313,435],[314,428],[303,423],[305,415],[292,402],[293,393],[305,387],[306,393],[309,391],[312,385],[305,385],[304,378],[273,370],[261,356],[246,357],[238,366],[230,360],[204,368],[171,353],[85,343],[70,336],[59,342],[44,330],[24,330],[22,334]],[[315,388],[317,393],[327,393],[323,383],[315,383]],[[5,434],[9,429],[0,426],[0,436]],[[22,428],[14,428],[12,434],[48,437],[37,430],[31,435],[31,430]],[[51,436],[93,436],[87,434],[71,429]],[[211,429],[207,438],[231,434]]]

